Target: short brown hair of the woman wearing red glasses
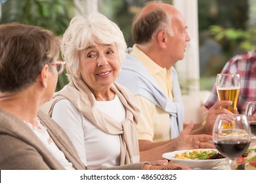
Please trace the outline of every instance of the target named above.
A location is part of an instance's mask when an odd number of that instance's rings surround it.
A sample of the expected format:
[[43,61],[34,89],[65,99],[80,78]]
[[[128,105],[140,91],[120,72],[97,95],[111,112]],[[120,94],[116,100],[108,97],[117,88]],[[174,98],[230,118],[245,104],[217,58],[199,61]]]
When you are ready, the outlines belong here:
[[45,64],[57,58],[60,38],[33,25],[0,25],[0,91],[16,92],[32,85]]

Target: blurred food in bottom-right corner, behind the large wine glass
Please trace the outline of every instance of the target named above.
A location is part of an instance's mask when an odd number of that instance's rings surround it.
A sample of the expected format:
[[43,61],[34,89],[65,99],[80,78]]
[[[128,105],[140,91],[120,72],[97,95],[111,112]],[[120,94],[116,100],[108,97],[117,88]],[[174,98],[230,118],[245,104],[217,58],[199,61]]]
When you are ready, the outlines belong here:
[[242,157],[236,158],[233,166],[236,170],[256,170],[256,146],[248,148]]

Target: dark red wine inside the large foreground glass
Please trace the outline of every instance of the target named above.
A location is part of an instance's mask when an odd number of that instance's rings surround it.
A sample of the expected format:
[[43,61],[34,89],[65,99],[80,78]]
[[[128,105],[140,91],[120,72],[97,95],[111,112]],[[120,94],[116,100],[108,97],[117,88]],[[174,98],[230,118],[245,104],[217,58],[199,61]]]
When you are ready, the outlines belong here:
[[214,142],[219,152],[230,159],[242,156],[249,147],[250,142],[247,141],[219,141]]

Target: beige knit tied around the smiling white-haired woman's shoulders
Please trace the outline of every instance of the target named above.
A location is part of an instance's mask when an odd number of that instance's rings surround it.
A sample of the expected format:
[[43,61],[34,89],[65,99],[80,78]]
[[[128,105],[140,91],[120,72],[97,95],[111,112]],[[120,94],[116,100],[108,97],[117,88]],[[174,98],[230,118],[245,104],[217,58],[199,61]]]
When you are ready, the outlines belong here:
[[126,110],[125,120],[121,123],[116,122],[111,116],[100,112],[95,107],[95,96],[81,78],[70,82],[60,92],[54,94],[49,116],[52,115],[56,102],[61,99],[68,99],[85,118],[104,133],[119,135],[121,143],[120,165],[137,163],[139,162],[139,144],[135,125],[138,123],[139,108],[137,108],[133,94],[127,89],[116,83],[112,84],[110,89],[116,93]]

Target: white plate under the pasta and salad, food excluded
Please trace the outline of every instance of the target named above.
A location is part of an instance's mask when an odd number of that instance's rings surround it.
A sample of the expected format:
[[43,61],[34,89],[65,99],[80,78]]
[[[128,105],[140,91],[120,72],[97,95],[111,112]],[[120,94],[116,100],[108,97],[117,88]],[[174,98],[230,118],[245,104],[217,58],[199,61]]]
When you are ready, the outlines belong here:
[[[203,149],[203,150],[214,150],[218,152],[216,149]],[[212,168],[219,167],[221,165],[226,165],[226,159],[177,159],[175,158],[175,154],[182,154],[183,152],[192,152],[193,150],[178,150],[174,152],[167,152],[163,154],[163,158],[171,160],[173,163],[179,163],[180,165],[186,165],[191,168]]]

